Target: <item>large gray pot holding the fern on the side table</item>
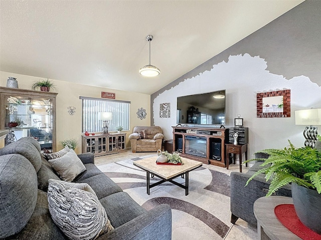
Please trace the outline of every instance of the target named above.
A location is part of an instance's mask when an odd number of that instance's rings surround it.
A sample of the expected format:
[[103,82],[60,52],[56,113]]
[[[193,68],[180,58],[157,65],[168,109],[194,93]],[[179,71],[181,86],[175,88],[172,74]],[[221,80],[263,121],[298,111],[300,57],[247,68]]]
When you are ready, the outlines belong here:
[[292,199],[300,221],[313,231],[321,234],[321,194],[292,182]]

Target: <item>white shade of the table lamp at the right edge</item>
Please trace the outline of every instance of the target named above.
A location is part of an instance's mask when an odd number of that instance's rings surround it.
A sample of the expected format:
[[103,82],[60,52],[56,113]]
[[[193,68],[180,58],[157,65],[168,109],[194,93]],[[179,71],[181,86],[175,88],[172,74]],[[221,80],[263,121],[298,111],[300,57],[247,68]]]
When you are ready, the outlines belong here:
[[321,108],[295,111],[295,125],[321,125]]

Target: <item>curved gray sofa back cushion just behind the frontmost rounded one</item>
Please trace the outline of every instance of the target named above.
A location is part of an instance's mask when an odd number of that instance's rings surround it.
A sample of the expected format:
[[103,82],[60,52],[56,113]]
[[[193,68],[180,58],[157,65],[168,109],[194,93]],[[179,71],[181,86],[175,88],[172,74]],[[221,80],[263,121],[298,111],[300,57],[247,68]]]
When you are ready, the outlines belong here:
[[41,167],[41,155],[38,149],[29,141],[14,141],[4,148],[0,149],[0,155],[18,153],[26,157],[39,171]]

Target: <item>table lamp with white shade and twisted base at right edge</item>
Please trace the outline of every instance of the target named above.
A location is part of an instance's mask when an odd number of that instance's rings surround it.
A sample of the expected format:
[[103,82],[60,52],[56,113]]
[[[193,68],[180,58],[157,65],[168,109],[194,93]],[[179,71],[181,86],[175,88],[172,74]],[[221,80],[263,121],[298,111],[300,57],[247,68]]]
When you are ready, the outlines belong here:
[[306,126],[303,131],[304,145],[314,148],[317,140],[317,126],[312,125],[321,125],[321,108],[295,111],[295,125],[310,125]]

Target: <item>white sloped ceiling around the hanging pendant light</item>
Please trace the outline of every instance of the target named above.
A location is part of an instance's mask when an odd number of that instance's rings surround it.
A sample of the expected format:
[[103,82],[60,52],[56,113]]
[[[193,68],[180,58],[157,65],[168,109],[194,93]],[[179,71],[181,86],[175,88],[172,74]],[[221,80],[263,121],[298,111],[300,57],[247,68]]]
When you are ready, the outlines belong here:
[[151,94],[300,2],[1,0],[0,70]]

